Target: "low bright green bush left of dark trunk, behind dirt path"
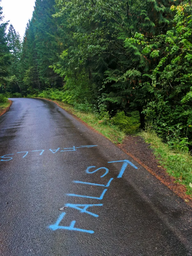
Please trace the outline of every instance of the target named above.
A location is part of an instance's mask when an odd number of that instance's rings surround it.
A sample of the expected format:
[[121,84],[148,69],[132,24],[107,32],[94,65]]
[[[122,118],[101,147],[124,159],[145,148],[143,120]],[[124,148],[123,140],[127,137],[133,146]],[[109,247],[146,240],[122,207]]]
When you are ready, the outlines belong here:
[[130,116],[125,116],[124,111],[117,112],[112,118],[112,123],[117,125],[121,131],[133,134],[140,127],[140,116],[138,111],[133,111]]

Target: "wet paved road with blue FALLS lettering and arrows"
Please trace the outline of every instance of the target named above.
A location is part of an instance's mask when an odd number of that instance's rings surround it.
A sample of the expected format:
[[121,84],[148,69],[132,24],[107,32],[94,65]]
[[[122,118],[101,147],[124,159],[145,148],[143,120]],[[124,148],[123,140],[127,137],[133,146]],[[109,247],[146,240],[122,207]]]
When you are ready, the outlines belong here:
[[183,200],[56,104],[12,101],[0,118],[1,256],[192,255]]

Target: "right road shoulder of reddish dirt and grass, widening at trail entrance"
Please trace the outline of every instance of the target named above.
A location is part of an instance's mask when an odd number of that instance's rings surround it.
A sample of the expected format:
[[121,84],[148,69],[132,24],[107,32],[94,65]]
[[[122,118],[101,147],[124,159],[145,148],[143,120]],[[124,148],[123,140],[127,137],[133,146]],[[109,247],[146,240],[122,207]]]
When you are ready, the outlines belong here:
[[[44,99],[44,98],[38,98]],[[95,132],[101,134],[108,140],[112,141],[116,144],[120,149],[124,151],[128,156],[132,157],[137,163],[143,166],[148,172],[150,172],[153,176],[155,176],[158,180],[160,180],[165,186],[167,186],[170,190],[172,190],[177,196],[182,198],[186,204],[192,207],[192,197],[186,194],[187,189],[184,185],[179,184],[176,179],[170,176],[166,169],[163,168],[158,159],[156,159],[153,150],[149,147],[150,144],[147,144],[142,137],[140,136],[125,136],[121,143],[117,144],[118,140],[111,139],[108,136],[105,136],[103,132],[97,129],[97,125],[92,125],[89,122],[86,122],[86,118],[81,118],[81,116],[76,115],[76,111],[74,111],[73,107],[60,102],[58,100],[49,100],[57,104],[60,108],[64,109],[69,114],[73,115],[78,121],[83,123],[88,128],[94,130]],[[83,120],[82,120],[83,119]],[[101,127],[102,128],[102,127]],[[112,136],[112,138],[114,138]]]

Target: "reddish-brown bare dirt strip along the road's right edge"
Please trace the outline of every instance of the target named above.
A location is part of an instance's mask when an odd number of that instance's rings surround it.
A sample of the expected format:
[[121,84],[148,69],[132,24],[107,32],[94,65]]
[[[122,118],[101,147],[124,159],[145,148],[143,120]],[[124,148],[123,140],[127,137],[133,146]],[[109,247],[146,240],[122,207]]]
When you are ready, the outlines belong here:
[[[44,99],[44,100],[49,100],[46,98],[37,98],[37,99]],[[63,108],[58,102],[54,101],[54,100],[49,100],[54,102],[55,104],[57,104],[60,108]],[[65,108],[63,108],[66,112],[68,112],[69,114],[71,114],[72,116],[74,116],[78,121],[80,121],[81,123],[83,123],[84,125],[86,125],[88,128],[94,130],[95,132],[101,134],[102,136],[104,136],[102,133],[98,132],[97,130],[95,130],[93,127],[89,126],[87,123],[85,123],[83,120],[81,120],[80,118],[78,118],[77,116],[75,116],[71,111],[66,110]],[[105,137],[105,136],[104,136]],[[108,139],[107,137],[105,137],[106,139]],[[132,140],[134,139],[134,144],[132,143]],[[143,144],[143,147],[138,147],[136,146],[136,150],[135,150],[135,142],[136,145],[139,141],[141,141],[141,144]],[[128,146],[129,145],[129,146]],[[131,145],[131,147],[130,147]],[[134,147],[132,147],[134,145]],[[127,146],[129,149],[127,149]],[[185,202],[186,204],[188,204],[189,206],[192,207],[192,198],[188,195],[186,195],[186,188],[184,185],[179,184],[179,183],[175,183],[175,178],[170,176],[166,170],[163,167],[157,167],[159,165],[158,160],[155,158],[153,151],[149,148],[150,144],[147,144],[140,136],[126,136],[126,138],[123,141],[123,144],[117,144],[117,147],[120,148],[121,150],[124,151],[124,153],[126,153],[128,156],[132,157],[138,164],[140,164],[141,166],[143,166],[148,172],[150,172],[152,175],[154,175],[158,180],[160,180],[165,186],[167,186],[169,189],[171,189],[177,196],[181,197],[182,199],[188,199],[189,202]],[[129,153],[128,151],[134,152],[134,155],[132,155],[131,153]],[[146,154],[147,153],[147,154]],[[137,157],[137,156],[142,156],[145,155],[147,156],[147,159],[143,159],[142,161]],[[151,161],[150,164],[152,164],[153,166],[153,170],[146,165],[146,163],[149,163],[149,159],[148,157],[150,157]]]

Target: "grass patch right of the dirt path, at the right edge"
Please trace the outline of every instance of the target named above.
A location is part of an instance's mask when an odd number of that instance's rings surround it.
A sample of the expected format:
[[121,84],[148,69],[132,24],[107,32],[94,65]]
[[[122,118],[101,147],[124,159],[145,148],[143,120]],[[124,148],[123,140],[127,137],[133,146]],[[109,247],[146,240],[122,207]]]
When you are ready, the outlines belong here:
[[154,131],[146,130],[140,135],[147,143],[151,143],[150,147],[154,149],[156,158],[169,175],[175,177],[178,183],[185,185],[186,194],[192,196],[192,157],[190,153],[172,150],[162,142]]

